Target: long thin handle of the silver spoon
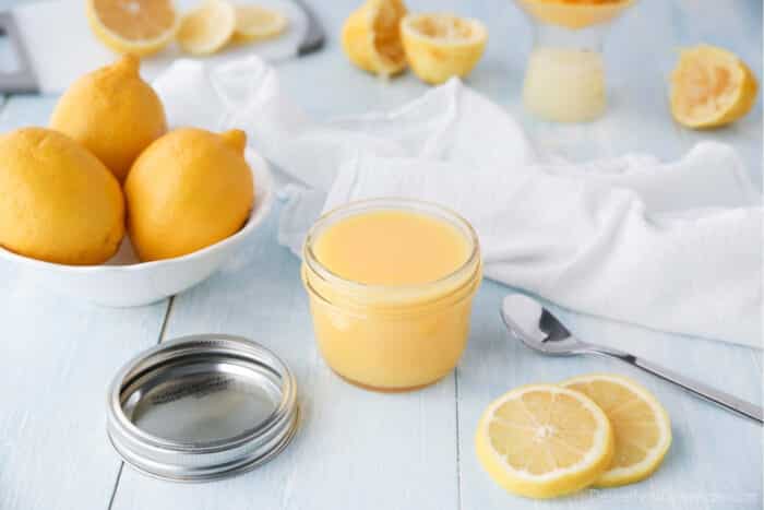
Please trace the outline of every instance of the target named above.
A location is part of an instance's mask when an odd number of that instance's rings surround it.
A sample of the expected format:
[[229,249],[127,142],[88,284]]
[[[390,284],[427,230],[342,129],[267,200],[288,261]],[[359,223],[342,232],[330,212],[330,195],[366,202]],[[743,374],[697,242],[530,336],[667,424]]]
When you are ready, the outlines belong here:
[[738,399],[737,396],[730,395],[729,393],[719,391],[715,388],[704,384],[703,382],[695,381],[680,373],[677,373],[673,370],[669,370],[668,368],[664,368],[660,365],[656,365],[652,361],[648,361],[646,359],[631,354],[622,353],[614,349],[596,349],[595,352],[597,354],[602,354],[606,356],[618,358],[621,361],[625,361],[630,365],[641,368],[666,381],[673,382],[675,384],[685,389],[691,393],[694,393],[701,399],[705,399],[709,402],[713,402],[726,408],[727,411],[731,411],[739,415],[745,416],[747,418],[753,419],[760,425],[764,424],[764,412],[762,412],[762,407],[760,405],[754,405],[751,402]]

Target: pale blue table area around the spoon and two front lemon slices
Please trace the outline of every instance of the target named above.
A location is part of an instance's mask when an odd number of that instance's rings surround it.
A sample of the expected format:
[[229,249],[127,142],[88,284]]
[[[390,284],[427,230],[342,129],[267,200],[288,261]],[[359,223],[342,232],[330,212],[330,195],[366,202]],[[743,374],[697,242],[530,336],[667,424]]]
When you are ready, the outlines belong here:
[[[750,453],[761,451],[760,426],[616,360],[549,358],[528,351],[508,337],[498,319],[506,293],[508,288],[501,285],[484,285],[475,308],[470,345],[457,372],[463,508],[761,508],[761,455]],[[759,352],[557,310],[583,339],[626,348],[753,402],[762,402]],[[516,386],[558,382],[587,372],[630,377],[664,403],[675,436],[665,464],[641,484],[586,491],[573,498],[532,502],[505,494],[482,472],[474,453],[473,435],[485,407]]]

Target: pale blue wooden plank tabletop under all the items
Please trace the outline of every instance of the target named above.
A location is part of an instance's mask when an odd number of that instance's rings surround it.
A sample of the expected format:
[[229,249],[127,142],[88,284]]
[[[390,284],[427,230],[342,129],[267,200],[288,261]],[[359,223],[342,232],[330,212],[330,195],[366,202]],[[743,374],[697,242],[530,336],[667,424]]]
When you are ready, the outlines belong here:
[[[324,51],[279,64],[284,86],[318,118],[398,105],[425,86],[383,83],[353,69],[336,35],[355,0],[312,3],[327,27]],[[611,108],[592,124],[533,120],[520,104],[525,20],[509,0],[410,0],[485,20],[488,51],[469,84],[504,105],[545,150],[572,158],[644,151],[675,158],[693,143],[732,144],[762,178],[762,110],[720,131],[672,123],[666,100],[676,48],[728,47],[762,75],[760,0],[642,0],[608,40]],[[55,97],[5,97],[0,129],[45,124]],[[2,198],[0,198],[1,200]],[[761,509],[762,430],[664,382],[602,359],[549,359],[508,340],[498,316],[508,288],[487,282],[458,369],[426,390],[384,395],[338,380],[313,342],[298,261],[275,240],[278,207],[244,252],[198,287],[154,306],[108,309],[74,303],[0,265],[0,509]],[[671,277],[671,269],[666,269]],[[119,289],[115,289],[119,292]],[[563,316],[582,336],[624,346],[754,402],[761,352]],[[106,387],[131,356],[177,335],[226,332],[262,342],[293,366],[303,422],[275,461],[243,476],[181,486],[123,466],[105,434]],[[665,403],[675,442],[658,473],[620,489],[536,502],[497,487],[473,435],[482,408],[517,384],[587,371],[642,381]]]

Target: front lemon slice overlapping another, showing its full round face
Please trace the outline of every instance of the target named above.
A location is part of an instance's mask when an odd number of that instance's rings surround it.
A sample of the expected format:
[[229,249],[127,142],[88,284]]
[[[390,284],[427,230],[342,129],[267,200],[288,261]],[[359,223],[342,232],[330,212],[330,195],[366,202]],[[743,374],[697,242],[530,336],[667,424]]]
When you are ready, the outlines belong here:
[[475,444],[499,485],[530,498],[588,486],[608,469],[614,449],[610,423],[597,404],[552,384],[521,387],[491,403]]

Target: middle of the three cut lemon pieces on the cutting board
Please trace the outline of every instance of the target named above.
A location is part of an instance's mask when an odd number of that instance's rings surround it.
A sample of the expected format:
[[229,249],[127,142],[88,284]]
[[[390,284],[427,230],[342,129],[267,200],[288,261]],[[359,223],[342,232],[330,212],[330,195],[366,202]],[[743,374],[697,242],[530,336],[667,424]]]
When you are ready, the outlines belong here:
[[223,48],[236,29],[236,9],[225,0],[205,0],[183,16],[178,44],[191,55],[212,55]]

